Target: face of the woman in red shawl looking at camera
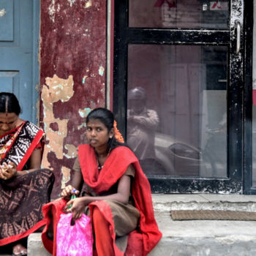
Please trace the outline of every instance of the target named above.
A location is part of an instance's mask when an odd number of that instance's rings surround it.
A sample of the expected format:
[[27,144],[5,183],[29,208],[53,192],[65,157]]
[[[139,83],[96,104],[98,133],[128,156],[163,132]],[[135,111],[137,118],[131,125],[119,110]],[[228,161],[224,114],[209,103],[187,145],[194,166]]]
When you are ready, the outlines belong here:
[[108,140],[113,137],[113,130],[108,132],[108,128],[99,119],[91,119],[86,124],[86,138],[95,149],[108,148]]

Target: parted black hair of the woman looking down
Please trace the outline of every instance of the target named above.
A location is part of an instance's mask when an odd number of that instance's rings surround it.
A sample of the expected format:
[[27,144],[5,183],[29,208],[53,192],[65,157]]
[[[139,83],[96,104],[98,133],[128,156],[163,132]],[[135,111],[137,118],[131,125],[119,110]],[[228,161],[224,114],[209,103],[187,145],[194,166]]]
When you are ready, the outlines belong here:
[[15,94],[0,92],[0,113],[20,114],[20,104]]

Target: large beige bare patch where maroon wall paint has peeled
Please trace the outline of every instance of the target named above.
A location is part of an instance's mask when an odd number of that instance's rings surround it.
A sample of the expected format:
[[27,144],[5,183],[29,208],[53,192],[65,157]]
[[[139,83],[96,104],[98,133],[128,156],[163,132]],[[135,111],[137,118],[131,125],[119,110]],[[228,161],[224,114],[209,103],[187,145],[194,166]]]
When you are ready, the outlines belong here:
[[[44,111],[44,130],[46,133],[46,141],[48,146],[45,148],[42,159],[42,166],[50,169],[50,163],[47,156],[50,152],[54,152],[58,159],[63,158],[64,138],[67,136],[67,123],[69,119],[56,118],[53,113],[53,103],[68,102],[73,96],[73,78],[69,75],[67,80],[58,78],[53,75],[53,78],[45,79],[46,85],[42,88],[42,104]],[[58,127],[58,129],[53,129]]]

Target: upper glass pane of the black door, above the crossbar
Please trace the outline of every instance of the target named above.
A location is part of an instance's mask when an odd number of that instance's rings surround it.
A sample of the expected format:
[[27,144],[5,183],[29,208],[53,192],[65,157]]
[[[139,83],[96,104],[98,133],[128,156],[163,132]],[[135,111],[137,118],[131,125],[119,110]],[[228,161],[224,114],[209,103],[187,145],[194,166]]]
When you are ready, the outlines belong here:
[[129,1],[129,26],[136,28],[227,29],[229,1]]

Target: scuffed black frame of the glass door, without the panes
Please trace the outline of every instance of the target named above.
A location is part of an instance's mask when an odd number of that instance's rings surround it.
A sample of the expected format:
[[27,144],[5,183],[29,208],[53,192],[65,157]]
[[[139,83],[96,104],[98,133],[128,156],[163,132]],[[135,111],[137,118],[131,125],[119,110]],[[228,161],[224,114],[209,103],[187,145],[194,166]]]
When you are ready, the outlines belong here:
[[[230,29],[145,29],[128,26],[129,0],[115,1],[113,112],[124,137],[127,131],[127,58],[129,44],[224,45],[227,61],[227,178],[168,178],[148,176],[154,193],[243,193],[243,0],[230,1]],[[242,9],[242,10],[241,10]],[[240,12],[239,12],[240,10]],[[241,50],[236,55],[234,16],[241,23]],[[238,15],[237,15],[238,13]],[[234,14],[234,15],[233,15]],[[231,16],[233,15],[233,17]],[[174,38],[174,39],[173,39]],[[173,39],[173,40],[170,40]],[[218,41],[216,40],[218,39]],[[239,68],[238,68],[239,67]],[[230,125],[232,122],[232,125]]]

